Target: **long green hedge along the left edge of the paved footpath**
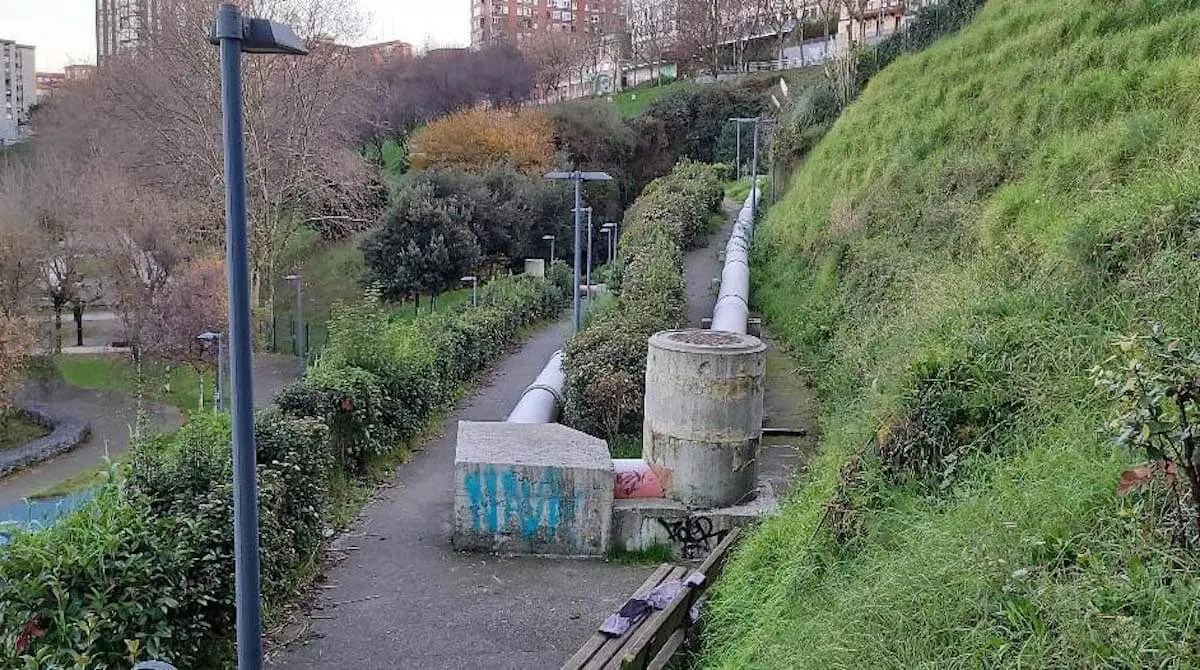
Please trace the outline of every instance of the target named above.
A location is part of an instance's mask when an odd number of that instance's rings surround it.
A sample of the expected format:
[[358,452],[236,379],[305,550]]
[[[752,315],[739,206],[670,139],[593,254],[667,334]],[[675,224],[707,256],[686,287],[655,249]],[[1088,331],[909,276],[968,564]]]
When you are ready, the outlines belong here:
[[[494,281],[478,307],[392,322],[378,295],[335,310],[310,373],[256,417],[264,602],[319,558],[330,480],[402,445],[461,384],[557,313],[569,277]],[[229,421],[139,439],[119,484],[0,549],[0,668],[216,668],[234,629]]]

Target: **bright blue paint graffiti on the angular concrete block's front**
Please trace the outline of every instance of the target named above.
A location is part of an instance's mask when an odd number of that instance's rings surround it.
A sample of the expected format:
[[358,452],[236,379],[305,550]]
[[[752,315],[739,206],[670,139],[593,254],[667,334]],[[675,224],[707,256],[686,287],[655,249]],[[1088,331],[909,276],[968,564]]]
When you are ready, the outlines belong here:
[[463,489],[474,531],[516,530],[526,542],[557,539],[563,519],[571,519],[584,499],[583,491],[564,491],[554,469],[530,479],[512,466],[482,466],[463,475]]

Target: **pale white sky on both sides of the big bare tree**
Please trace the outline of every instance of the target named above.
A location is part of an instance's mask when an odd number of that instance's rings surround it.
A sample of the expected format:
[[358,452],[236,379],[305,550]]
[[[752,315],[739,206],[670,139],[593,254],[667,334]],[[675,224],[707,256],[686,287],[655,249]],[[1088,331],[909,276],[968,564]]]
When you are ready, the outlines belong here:
[[[355,0],[367,18],[358,42],[403,40],[420,49],[467,46],[470,0]],[[216,7],[218,0],[212,0]],[[95,0],[0,0],[0,38],[37,48],[40,72],[96,61]]]

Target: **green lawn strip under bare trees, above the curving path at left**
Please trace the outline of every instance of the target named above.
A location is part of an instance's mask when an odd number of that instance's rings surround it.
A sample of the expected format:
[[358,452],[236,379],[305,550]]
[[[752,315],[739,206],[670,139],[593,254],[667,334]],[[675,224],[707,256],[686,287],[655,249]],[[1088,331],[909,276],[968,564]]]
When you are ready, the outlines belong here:
[[[62,355],[55,360],[62,381],[83,389],[143,394],[152,402],[172,405],[185,414],[200,407],[200,376],[191,365],[144,360],[140,371],[115,355]],[[212,370],[204,370],[204,406],[212,401]]]

